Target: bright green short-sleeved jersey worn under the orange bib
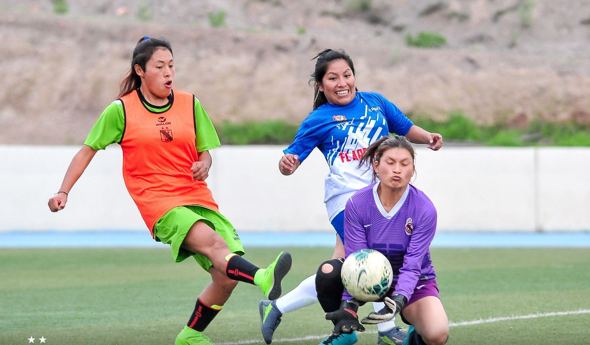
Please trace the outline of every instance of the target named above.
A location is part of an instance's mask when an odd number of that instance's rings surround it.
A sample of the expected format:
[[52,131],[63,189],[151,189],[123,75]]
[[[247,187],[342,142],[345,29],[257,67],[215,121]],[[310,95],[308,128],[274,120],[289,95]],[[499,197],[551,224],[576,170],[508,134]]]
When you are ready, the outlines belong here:
[[[138,90],[139,91],[139,90]],[[148,107],[149,110],[156,113],[163,113],[170,109],[172,106],[173,98],[171,102],[165,106],[158,107],[149,104],[142,98],[143,104]],[[211,119],[207,115],[207,111],[201,105],[201,101],[195,97],[195,123],[196,123],[196,139],[195,146],[197,152],[208,151],[215,149],[215,147],[221,146],[219,143],[219,137],[215,132],[215,127],[211,123]],[[120,143],[123,137],[123,130],[125,128],[125,117],[123,115],[123,104],[120,100],[113,101],[109,106],[104,109],[100,115],[99,120],[96,121],[92,130],[88,134],[85,145],[92,147],[94,150],[104,150],[105,147],[112,143]]]

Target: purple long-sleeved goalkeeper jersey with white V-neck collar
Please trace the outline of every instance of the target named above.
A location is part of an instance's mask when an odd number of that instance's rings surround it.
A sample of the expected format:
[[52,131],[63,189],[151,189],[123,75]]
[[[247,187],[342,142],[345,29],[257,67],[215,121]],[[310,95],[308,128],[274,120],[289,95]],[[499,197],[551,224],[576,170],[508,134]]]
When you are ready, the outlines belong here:
[[[386,212],[378,186],[379,182],[360,189],[346,203],[346,257],[359,249],[381,252],[394,271],[393,293],[409,300],[418,281],[436,277],[428,248],[437,228],[437,210],[421,190],[408,185],[394,208]],[[345,291],[343,299],[351,298]]]

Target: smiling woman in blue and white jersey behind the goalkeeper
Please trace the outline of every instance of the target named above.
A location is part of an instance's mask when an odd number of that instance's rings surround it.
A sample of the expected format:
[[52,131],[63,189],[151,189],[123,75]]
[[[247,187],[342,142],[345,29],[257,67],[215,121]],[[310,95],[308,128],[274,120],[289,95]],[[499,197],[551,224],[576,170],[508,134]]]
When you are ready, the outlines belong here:
[[[376,140],[389,133],[406,136],[412,143],[428,144],[438,150],[442,136],[415,126],[402,112],[378,93],[358,92],[355,87],[355,67],[345,51],[324,50],[315,58],[316,66],[311,82],[314,84],[313,111],[301,123],[293,143],[284,150],[279,162],[283,175],[291,175],[316,147],[323,153],[330,166],[326,176],[324,202],[330,222],[337,232],[332,265],[339,265],[344,256],[344,209],[346,201],[357,190],[372,182],[366,167],[359,167],[363,152]],[[341,264],[341,262],[340,262]],[[297,310],[320,301],[324,297],[316,293],[316,275],[307,278],[293,291],[279,298],[276,303],[260,302],[261,330],[264,340],[270,344],[274,330],[283,313]],[[321,280],[322,278],[320,278]],[[376,303],[381,310],[383,303]],[[405,334],[395,327],[394,320],[379,325],[378,344],[403,339]],[[323,345],[350,345],[356,343],[355,334],[345,334],[337,339],[325,339]]]

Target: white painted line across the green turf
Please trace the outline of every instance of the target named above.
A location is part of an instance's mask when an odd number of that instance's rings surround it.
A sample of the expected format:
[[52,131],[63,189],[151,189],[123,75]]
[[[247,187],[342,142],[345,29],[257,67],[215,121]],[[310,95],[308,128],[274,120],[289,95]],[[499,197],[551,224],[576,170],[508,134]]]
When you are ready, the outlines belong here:
[[[451,321],[448,323],[448,327],[471,326],[474,324],[491,323],[491,322],[498,322],[498,321],[523,320],[526,318],[537,318],[537,317],[548,317],[548,316],[565,316],[565,315],[575,315],[575,314],[590,314],[590,309],[553,311],[551,313],[537,313],[537,314],[520,315],[520,316],[490,317],[490,318],[480,318],[478,320],[460,321],[460,322]],[[363,334],[375,334],[375,333],[377,333],[377,331],[363,332]],[[294,341],[304,341],[304,340],[323,340],[326,337],[327,337],[327,334],[324,334],[323,336],[306,336],[306,337],[299,337],[299,338],[274,339],[273,343],[291,343]],[[247,345],[247,344],[264,344],[264,340],[262,340],[262,339],[249,339],[249,340],[226,341],[225,343],[217,343],[217,345]]]

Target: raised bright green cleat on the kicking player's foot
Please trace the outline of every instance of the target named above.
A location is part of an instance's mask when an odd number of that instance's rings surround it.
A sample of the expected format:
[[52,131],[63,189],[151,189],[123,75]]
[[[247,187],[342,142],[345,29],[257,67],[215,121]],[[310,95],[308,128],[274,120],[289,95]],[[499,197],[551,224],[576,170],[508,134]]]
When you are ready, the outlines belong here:
[[281,290],[281,280],[291,269],[292,261],[289,252],[281,252],[267,268],[261,268],[254,275],[254,284],[260,287],[260,290],[269,300],[274,301],[281,297],[283,292]]

